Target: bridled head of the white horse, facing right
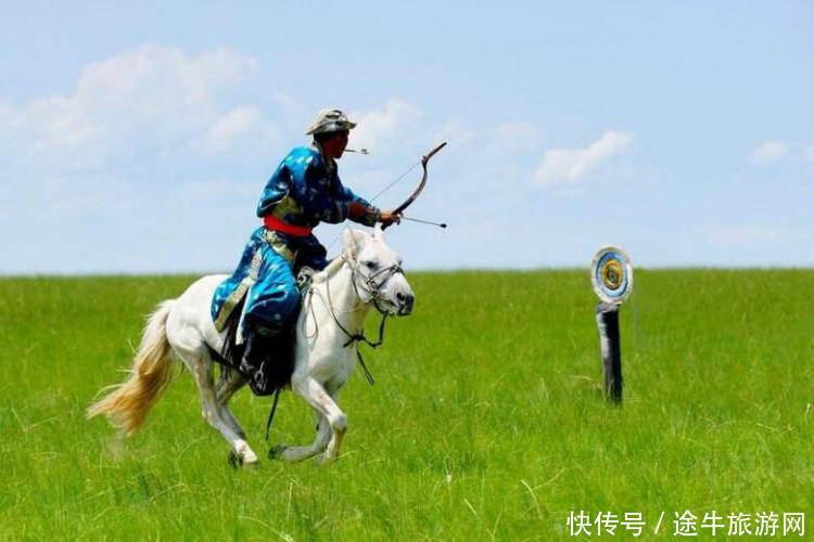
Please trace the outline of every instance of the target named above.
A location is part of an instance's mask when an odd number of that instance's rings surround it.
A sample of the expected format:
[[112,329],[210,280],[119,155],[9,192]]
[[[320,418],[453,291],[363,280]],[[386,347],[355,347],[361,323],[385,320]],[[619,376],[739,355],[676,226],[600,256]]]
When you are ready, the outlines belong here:
[[402,258],[384,243],[384,232],[345,230],[343,257],[353,270],[354,287],[365,304],[382,314],[406,317],[416,296],[402,270]]

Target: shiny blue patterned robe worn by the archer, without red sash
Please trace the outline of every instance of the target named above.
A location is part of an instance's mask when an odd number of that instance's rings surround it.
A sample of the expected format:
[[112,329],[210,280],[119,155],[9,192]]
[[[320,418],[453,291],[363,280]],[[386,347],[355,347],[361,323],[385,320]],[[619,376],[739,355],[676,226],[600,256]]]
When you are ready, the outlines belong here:
[[[348,218],[348,204],[364,198],[342,185],[336,163],[322,155],[317,143],[291,151],[263,190],[257,216],[274,216],[292,225],[314,228],[320,221],[338,223]],[[357,221],[374,225],[377,212]],[[321,270],[328,264],[326,249],[313,234],[297,236],[260,227],[243,249],[238,268],[215,289],[212,319],[222,331],[234,307],[246,296],[238,340],[245,319],[270,328],[281,328],[300,305],[294,273],[307,266]]]

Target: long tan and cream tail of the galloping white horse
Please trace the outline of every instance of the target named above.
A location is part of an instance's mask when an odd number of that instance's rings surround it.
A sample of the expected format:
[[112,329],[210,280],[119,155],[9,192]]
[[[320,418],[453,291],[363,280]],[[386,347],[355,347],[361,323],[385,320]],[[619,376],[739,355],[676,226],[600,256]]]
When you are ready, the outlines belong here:
[[167,317],[174,305],[175,300],[164,301],[149,317],[130,376],[124,384],[112,386],[113,391],[88,406],[88,418],[104,414],[126,437],[141,428],[148,412],[173,377]]

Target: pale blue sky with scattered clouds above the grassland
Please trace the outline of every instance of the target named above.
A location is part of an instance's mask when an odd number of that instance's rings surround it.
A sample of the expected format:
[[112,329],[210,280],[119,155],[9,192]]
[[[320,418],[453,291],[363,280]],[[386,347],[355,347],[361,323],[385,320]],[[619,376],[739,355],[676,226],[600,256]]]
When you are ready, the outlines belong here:
[[323,107],[408,271],[814,266],[812,2],[0,4],[0,274],[231,271]]

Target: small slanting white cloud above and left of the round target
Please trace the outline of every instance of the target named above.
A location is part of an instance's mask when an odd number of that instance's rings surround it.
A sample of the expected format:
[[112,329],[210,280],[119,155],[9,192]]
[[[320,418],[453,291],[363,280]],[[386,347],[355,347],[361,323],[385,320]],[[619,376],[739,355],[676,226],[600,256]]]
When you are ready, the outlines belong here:
[[542,185],[575,183],[598,164],[629,150],[632,143],[631,132],[607,131],[584,149],[546,151],[534,173],[534,182]]

